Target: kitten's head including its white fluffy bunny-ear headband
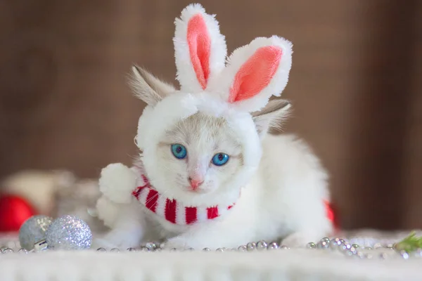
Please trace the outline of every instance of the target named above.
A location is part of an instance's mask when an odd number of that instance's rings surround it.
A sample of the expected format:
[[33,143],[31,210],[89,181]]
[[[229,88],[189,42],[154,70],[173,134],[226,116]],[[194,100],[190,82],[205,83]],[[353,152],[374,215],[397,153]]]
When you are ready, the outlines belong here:
[[287,84],[292,46],[259,37],[226,58],[219,24],[199,4],[175,25],[180,90],[134,67],[132,87],[148,103],[136,137],[143,165],[167,197],[232,203],[260,164],[262,136],[286,113],[286,102],[269,98]]

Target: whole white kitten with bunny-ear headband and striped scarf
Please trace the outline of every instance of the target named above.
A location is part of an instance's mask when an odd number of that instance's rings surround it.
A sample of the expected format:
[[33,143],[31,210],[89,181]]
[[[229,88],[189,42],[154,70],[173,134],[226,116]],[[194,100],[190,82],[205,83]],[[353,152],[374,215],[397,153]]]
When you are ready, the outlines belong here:
[[327,176],[307,145],[267,134],[289,104],[292,45],[260,37],[226,60],[217,20],[198,4],[177,19],[177,91],[134,67],[139,162],[101,172],[98,215],[112,229],[97,245],[237,247],[284,239],[305,245],[331,232]]

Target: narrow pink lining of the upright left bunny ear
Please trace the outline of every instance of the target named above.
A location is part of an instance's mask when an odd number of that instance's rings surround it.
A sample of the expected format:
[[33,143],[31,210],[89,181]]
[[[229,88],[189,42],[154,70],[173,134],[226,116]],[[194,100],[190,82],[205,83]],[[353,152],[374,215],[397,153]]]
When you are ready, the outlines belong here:
[[188,22],[188,46],[193,70],[203,89],[210,76],[211,39],[202,15],[194,15]]

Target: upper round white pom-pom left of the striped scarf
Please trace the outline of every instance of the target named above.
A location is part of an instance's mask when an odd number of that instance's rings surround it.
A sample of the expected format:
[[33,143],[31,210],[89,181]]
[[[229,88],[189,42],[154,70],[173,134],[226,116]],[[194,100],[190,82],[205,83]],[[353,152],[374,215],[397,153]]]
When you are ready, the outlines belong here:
[[136,174],[121,163],[109,164],[101,171],[98,185],[110,201],[129,204],[136,188]]

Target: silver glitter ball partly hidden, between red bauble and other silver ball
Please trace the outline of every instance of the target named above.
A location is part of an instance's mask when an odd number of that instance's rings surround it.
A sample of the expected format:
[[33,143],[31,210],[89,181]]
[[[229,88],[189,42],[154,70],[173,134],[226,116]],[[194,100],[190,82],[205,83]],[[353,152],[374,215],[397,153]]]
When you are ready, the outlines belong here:
[[49,216],[32,216],[23,223],[19,230],[20,246],[30,251],[34,244],[46,239],[46,231],[49,228],[53,218]]

